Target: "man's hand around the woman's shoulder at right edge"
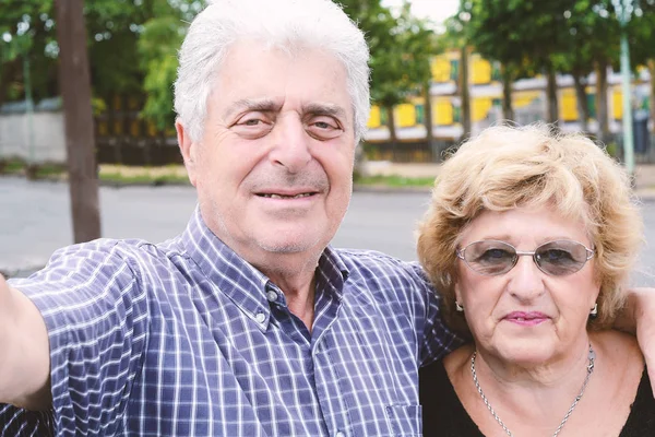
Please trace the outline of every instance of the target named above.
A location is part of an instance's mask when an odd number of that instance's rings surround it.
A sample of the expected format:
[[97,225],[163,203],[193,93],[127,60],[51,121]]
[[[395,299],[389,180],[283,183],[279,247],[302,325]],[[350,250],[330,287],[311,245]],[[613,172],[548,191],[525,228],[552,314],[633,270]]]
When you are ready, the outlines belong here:
[[636,333],[655,397],[655,288],[631,288],[615,328]]

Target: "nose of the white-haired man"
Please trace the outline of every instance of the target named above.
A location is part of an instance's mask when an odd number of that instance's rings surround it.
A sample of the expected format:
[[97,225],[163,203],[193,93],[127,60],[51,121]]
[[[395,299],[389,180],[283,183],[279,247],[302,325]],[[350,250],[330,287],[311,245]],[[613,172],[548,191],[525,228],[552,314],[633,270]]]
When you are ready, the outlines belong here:
[[301,172],[311,161],[310,137],[302,121],[293,115],[281,117],[271,133],[273,164],[284,166],[289,173]]

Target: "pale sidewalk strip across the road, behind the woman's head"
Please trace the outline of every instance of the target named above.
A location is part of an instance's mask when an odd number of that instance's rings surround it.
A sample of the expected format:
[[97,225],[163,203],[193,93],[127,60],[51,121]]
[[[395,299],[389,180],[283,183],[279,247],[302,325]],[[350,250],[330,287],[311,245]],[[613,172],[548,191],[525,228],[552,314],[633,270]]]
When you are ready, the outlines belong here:
[[[440,164],[392,163],[390,161],[368,161],[365,164],[365,173],[368,176],[437,177],[440,168]],[[655,200],[655,164],[636,165],[634,182],[635,193],[640,199]]]

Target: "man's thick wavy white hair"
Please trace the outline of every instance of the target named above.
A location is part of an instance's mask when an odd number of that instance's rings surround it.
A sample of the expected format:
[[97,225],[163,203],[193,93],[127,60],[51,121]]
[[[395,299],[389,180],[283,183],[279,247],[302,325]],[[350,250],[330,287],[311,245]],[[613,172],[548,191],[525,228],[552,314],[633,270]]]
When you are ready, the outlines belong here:
[[191,23],[179,52],[175,110],[192,140],[202,137],[207,98],[229,47],[257,39],[288,52],[311,47],[338,59],[347,75],[355,138],[370,110],[369,51],[364,34],[331,0],[216,0]]

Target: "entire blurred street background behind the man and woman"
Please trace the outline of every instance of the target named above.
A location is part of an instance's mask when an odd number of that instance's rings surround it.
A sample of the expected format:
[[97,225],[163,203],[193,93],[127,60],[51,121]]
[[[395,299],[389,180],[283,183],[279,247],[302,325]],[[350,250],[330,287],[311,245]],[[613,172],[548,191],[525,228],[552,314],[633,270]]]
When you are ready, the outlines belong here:
[[[655,221],[655,0],[340,2],[371,48],[373,106],[355,177],[376,188],[356,194],[340,246],[413,259],[412,228],[443,152],[501,120],[544,120],[604,144]],[[29,271],[100,235],[160,240],[183,228],[194,193],[171,85],[205,4],[0,0],[0,271]],[[81,127],[67,128],[67,113]]]

